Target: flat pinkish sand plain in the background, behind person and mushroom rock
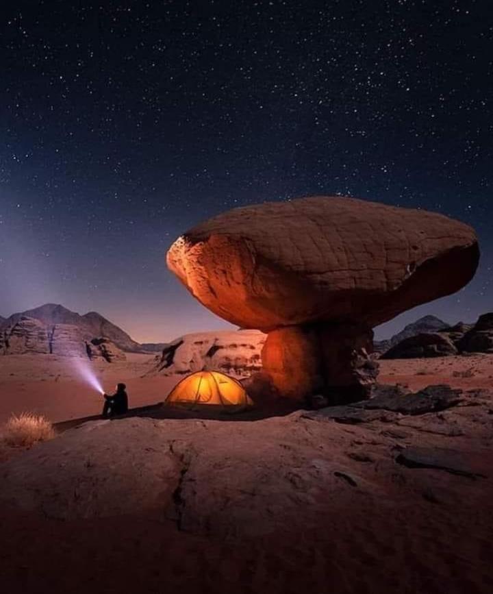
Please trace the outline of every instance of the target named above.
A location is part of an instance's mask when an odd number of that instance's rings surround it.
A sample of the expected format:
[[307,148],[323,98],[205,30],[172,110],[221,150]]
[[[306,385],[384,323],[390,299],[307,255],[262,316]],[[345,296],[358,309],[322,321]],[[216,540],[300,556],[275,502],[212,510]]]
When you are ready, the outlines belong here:
[[[181,376],[152,373],[155,355],[127,354],[125,362],[88,365],[111,393],[125,382],[130,406],[163,401]],[[493,356],[472,355],[432,359],[381,360],[379,382],[403,384],[417,391],[430,384],[462,389],[492,388]],[[70,357],[10,355],[0,358],[0,423],[12,412],[44,414],[53,423],[99,414],[102,398],[81,379]]]

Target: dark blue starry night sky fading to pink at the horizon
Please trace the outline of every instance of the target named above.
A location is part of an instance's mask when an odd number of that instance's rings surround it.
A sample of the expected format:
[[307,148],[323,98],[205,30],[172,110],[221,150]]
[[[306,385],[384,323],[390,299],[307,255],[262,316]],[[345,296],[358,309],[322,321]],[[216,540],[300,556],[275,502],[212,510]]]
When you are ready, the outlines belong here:
[[228,327],[166,269],[235,206],[349,195],[474,225],[493,309],[493,20],[475,0],[38,0],[0,23],[0,314],[97,310],[138,341]]

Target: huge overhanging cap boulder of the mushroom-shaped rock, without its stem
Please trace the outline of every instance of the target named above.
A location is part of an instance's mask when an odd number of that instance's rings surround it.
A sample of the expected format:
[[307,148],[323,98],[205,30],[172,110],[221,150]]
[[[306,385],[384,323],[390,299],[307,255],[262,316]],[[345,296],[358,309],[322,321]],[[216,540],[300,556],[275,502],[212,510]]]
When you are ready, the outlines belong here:
[[357,319],[370,327],[474,275],[475,232],[442,214],[340,197],[236,208],[168,251],[194,297],[232,323]]

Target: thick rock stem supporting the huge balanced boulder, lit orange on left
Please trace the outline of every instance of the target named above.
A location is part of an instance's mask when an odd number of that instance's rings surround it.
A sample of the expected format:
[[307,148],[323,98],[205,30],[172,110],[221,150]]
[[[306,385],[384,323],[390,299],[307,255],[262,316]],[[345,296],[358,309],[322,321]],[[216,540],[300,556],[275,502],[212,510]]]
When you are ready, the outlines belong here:
[[373,332],[359,324],[288,326],[269,332],[262,365],[276,393],[294,400],[322,394],[329,403],[361,400],[377,378]]

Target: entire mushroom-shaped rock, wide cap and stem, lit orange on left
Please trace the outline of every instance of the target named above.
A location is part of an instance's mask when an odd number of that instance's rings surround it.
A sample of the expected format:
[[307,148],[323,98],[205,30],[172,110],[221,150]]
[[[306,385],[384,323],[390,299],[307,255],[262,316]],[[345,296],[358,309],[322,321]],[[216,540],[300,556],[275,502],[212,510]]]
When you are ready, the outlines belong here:
[[372,327],[455,293],[474,275],[474,230],[442,214],[342,197],[236,208],[170,247],[167,264],[203,305],[268,332],[280,395],[367,391]]

